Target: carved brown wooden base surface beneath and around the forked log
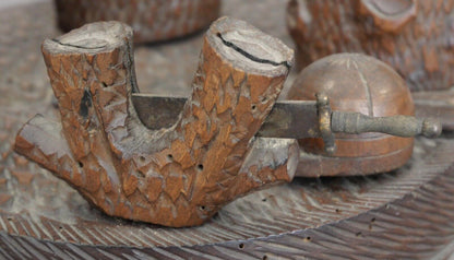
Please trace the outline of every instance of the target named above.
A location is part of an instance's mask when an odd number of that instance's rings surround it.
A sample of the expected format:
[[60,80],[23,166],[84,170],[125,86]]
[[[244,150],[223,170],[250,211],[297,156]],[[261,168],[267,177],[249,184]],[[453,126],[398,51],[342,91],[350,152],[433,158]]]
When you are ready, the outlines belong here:
[[[224,3],[224,14],[291,44],[285,29],[285,1]],[[450,134],[433,141],[416,139],[413,157],[396,172],[297,178],[235,200],[201,226],[166,228],[103,214],[65,181],[13,152],[15,133],[36,113],[59,121],[39,45],[60,32],[49,2],[0,10],[0,73],[5,75],[0,76],[4,93],[0,95],[0,258],[449,259],[452,255]],[[198,35],[136,47],[141,91],[189,95],[201,43]],[[290,79],[286,84],[291,83]],[[25,176],[33,178],[24,181]],[[377,225],[369,229],[373,217]]]

